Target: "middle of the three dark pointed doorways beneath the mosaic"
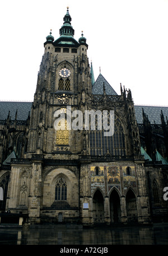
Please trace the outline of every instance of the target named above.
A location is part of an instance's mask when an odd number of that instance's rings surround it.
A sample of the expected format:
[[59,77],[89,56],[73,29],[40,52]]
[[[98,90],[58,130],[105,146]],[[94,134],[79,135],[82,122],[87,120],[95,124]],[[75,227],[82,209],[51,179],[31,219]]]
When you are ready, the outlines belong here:
[[118,192],[114,189],[110,194],[111,222],[121,222],[121,206]]

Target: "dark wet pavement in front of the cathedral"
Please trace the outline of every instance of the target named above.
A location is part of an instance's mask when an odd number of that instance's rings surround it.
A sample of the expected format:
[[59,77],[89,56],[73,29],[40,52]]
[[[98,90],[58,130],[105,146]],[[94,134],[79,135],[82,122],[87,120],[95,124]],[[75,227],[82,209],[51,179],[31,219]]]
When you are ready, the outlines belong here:
[[146,227],[0,227],[0,245],[168,245],[168,223]]

